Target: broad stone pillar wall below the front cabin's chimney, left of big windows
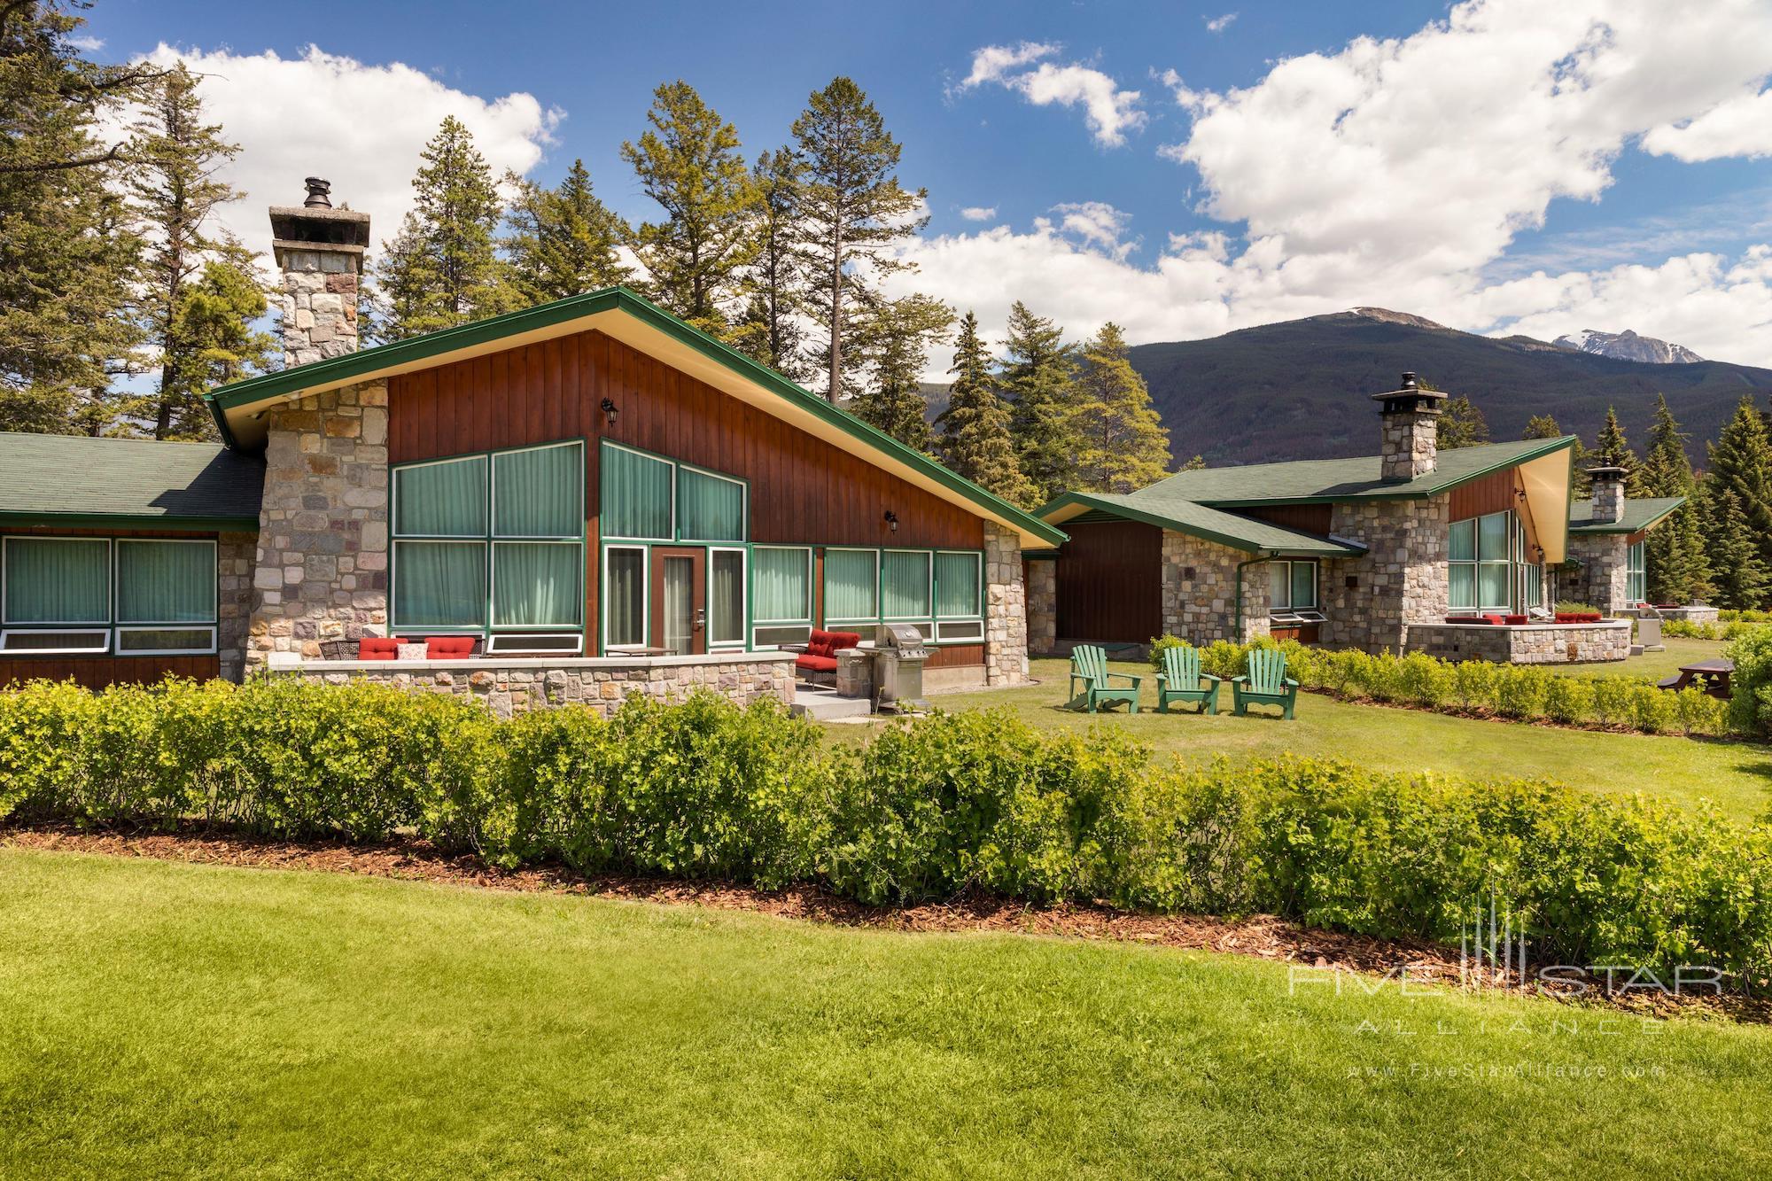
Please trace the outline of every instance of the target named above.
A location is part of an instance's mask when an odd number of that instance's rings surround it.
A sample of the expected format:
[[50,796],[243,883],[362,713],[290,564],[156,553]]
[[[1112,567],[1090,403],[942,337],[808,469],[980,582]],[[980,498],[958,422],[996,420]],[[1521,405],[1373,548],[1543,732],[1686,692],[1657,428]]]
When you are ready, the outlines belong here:
[[388,622],[386,383],[278,406],[266,427],[248,669]]

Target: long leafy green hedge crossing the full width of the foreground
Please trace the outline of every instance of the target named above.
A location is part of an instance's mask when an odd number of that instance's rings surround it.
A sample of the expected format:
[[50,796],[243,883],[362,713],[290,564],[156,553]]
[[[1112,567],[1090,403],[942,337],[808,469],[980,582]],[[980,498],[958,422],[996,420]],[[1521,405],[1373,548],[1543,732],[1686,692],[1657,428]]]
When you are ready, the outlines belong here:
[[0,693],[0,816],[237,821],[276,837],[411,830],[496,865],[558,860],[867,903],[1271,911],[1457,942],[1494,899],[1559,963],[1772,975],[1772,828],[1543,782],[1299,759],[1159,764],[1123,727],[999,711],[822,743],[774,706],[631,700],[611,720],[376,684],[168,681]]

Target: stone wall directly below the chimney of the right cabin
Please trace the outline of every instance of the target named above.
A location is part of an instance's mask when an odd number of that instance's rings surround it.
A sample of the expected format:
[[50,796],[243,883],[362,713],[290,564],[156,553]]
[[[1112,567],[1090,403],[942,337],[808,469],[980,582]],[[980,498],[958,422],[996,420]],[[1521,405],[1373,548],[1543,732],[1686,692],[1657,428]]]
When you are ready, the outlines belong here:
[[[1317,598],[1327,647],[1400,651],[1412,622],[1446,617],[1449,498],[1336,504],[1329,532],[1363,541],[1366,553],[1322,562]],[[1352,582],[1352,585],[1348,585]]]

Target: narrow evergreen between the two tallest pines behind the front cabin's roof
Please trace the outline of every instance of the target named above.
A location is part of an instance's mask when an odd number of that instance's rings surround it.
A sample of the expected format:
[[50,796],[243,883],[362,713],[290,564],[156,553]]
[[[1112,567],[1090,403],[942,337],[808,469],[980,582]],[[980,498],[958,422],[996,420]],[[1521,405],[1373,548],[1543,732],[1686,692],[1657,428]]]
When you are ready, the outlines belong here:
[[751,266],[744,317],[732,335],[734,348],[801,383],[812,374],[801,326],[810,310],[806,271],[796,250],[804,179],[806,165],[790,147],[762,153],[751,168]]

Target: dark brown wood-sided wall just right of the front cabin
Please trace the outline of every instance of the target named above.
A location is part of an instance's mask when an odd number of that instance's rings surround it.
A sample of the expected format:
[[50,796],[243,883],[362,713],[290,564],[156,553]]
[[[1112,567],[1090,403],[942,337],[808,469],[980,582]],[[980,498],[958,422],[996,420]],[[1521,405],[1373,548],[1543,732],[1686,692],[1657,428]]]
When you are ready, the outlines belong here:
[[1061,525],[1058,635],[1148,644],[1162,633],[1162,530],[1141,521]]

